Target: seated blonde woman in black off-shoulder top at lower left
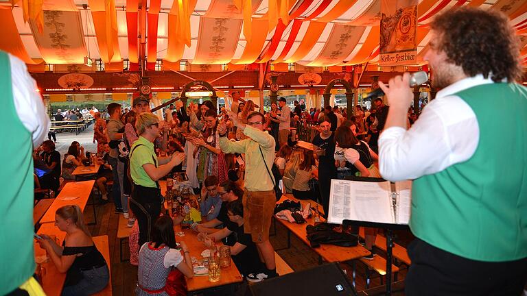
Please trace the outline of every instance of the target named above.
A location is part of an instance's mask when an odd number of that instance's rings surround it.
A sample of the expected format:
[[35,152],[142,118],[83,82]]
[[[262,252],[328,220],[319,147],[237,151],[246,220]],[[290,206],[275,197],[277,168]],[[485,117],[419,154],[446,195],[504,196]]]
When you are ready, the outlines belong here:
[[66,232],[62,246],[45,234],[38,244],[47,251],[58,271],[66,273],[62,295],[92,295],[102,291],[110,280],[108,264],[95,247],[80,208],[59,208],[55,212],[55,225]]

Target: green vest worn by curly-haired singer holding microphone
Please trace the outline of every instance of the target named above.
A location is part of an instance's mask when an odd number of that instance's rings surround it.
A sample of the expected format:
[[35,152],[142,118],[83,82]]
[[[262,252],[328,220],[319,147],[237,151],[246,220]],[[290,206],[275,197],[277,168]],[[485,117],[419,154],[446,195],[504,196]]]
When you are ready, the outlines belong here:
[[485,84],[455,95],[476,114],[478,147],[469,160],[414,180],[410,228],[430,245],[471,260],[525,258],[527,88]]

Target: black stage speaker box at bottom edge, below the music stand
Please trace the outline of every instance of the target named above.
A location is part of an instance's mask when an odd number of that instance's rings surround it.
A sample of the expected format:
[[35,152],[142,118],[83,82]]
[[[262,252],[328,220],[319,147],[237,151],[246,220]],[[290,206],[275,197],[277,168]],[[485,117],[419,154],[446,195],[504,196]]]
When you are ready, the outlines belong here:
[[249,284],[246,296],[343,296],[357,295],[338,263],[327,263],[256,284]]

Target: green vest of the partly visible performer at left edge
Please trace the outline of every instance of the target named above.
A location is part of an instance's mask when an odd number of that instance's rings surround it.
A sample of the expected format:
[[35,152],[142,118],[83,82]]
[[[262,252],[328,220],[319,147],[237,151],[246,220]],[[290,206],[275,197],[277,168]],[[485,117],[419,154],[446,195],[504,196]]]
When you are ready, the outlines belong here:
[[32,134],[16,114],[9,56],[3,51],[0,89],[0,295],[4,295],[32,276],[35,259]]

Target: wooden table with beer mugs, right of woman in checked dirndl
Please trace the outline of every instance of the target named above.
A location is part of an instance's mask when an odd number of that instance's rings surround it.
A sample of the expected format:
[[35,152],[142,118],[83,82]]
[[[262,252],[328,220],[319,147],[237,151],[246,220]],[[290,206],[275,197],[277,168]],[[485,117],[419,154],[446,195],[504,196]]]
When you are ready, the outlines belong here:
[[[180,225],[174,226],[174,231],[181,232],[182,230]],[[187,244],[187,247],[189,247],[190,256],[194,256],[198,260],[202,259],[201,252],[204,249],[207,249],[207,247],[205,247],[202,242],[198,241],[197,233],[194,232],[194,230],[187,229],[183,230],[183,232],[185,233],[185,236],[176,236],[176,240],[178,242],[183,240]],[[221,243],[217,243],[217,245],[221,245]],[[202,293],[203,290],[217,288],[219,286],[237,284],[242,282],[243,277],[231,259],[231,266],[222,268],[220,280],[218,282],[209,282],[209,276],[207,275],[195,276],[191,279],[185,277],[185,280],[187,280],[189,294],[194,295]]]

